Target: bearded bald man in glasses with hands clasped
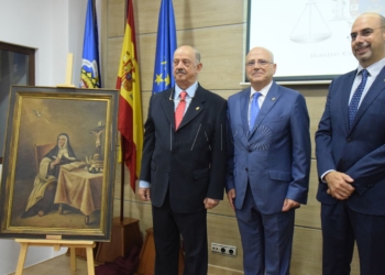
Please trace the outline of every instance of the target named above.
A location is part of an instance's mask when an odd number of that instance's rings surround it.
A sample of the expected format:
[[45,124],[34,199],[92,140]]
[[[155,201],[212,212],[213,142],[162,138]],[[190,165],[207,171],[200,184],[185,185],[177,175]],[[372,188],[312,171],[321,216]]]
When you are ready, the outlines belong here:
[[316,133],[323,274],[350,274],[354,241],[361,275],[385,274],[385,19],[352,25],[358,69],[334,79]]

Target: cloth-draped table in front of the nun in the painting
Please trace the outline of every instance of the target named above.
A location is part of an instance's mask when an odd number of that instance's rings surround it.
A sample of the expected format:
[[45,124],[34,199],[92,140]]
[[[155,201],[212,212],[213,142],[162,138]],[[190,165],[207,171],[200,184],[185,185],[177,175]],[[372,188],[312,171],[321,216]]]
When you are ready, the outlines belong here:
[[[102,173],[91,174],[84,168],[72,172],[61,169],[54,204],[79,209],[88,224],[90,213],[101,208],[102,179]],[[59,213],[63,213],[62,207]]]

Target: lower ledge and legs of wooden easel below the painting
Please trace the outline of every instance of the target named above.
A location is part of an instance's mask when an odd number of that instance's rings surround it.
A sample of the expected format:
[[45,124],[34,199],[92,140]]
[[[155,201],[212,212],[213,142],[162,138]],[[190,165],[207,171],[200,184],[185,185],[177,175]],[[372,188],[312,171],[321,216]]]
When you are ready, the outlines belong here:
[[94,241],[68,241],[68,240],[32,240],[32,239],[15,239],[15,242],[19,242],[20,254],[18,261],[18,267],[15,275],[22,275],[26,252],[30,245],[32,246],[54,246],[55,251],[58,251],[62,246],[70,249],[70,271],[76,271],[76,255],[75,248],[86,249],[87,252],[87,270],[88,275],[95,275],[95,265],[94,265],[94,252],[95,248]]

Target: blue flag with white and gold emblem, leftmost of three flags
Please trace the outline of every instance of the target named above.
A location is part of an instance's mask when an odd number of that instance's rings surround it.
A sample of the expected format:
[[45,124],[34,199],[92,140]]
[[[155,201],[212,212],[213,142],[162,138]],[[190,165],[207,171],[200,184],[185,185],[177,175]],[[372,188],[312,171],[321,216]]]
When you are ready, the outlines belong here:
[[80,88],[101,88],[98,22],[94,0],[88,0],[87,4]]

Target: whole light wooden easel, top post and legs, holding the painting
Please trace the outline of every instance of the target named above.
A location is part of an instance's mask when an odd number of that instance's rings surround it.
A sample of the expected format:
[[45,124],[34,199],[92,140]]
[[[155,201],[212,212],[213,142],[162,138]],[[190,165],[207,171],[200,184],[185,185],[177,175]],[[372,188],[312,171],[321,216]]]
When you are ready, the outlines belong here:
[[[69,53],[67,55],[67,68],[66,68],[66,82],[57,85],[62,88],[75,88],[75,85],[70,84],[73,78],[73,64],[74,55]],[[15,275],[21,275],[23,273],[26,252],[30,245],[33,246],[53,246],[55,251],[58,251],[62,246],[69,248],[70,250],[70,270],[76,271],[76,253],[75,249],[86,249],[87,254],[87,270],[88,275],[95,275],[95,264],[94,264],[94,251],[96,243],[94,241],[70,241],[70,240],[59,240],[56,239],[47,240],[35,240],[35,239],[15,239],[21,245],[19,261],[16,266]],[[58,237],[59,238],[59,237]]]

